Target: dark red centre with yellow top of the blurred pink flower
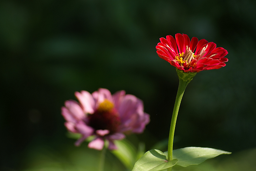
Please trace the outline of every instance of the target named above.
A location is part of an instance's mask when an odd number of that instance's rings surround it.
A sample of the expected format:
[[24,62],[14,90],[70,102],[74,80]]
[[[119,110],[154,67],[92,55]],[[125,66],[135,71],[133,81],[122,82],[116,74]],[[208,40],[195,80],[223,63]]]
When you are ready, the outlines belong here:
[[116,132],[120,125],[120,117],[114,104],[109,100],[101,102],[94,112],[88,115],[89,125],[95,130],[109,130]]

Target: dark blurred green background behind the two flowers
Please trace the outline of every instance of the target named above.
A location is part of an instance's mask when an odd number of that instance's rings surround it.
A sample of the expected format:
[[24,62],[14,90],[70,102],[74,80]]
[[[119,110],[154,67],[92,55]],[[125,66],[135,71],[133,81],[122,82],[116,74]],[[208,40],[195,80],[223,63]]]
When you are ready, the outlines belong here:
[[[175,33],[215,42],[229,61],[188,85],[174,149],[233,152],[188,170],[254,170],[255,10],[254,0],[1,0],[0,170],[94,170],[98,151],[74,147],[60,114],[75,91],[134,94],[151,122],[129,141],[164,142],[179,81],[155,46]],[[110,170],[124,170],[107,155]]]

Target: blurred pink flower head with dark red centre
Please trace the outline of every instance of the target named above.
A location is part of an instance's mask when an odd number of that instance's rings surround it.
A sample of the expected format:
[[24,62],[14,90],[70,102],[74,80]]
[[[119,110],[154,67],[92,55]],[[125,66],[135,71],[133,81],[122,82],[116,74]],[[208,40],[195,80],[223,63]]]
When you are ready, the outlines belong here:
[[142,133],[149,123],[143,102],[134,95],[125,95],[124,90],[111,95],[109,90],[100,88],[92,94],[76,92],[75,96],[79,102],[67,100],[61,113],[67,129],[82,134],[76,146],[94,135],[89,148],[102,150],[104,140],[108,140],[108,148],[116,149],[114,140],[125,138],[126,133]]

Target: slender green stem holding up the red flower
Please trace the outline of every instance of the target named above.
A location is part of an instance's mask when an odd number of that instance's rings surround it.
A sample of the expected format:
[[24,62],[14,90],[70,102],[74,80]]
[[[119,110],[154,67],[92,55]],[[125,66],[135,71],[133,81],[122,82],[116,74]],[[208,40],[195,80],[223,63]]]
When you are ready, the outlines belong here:
[[[176,96],[176,100],[175,100],[174,108],[172,112],[172,121],[171,121],[169,140],[168,140],[168,161],[172,160],[173,138],[174,138],[176,120],[177,120],[177,116],[180,108],[180,102],[181,102],[183,93],[189,82],[190,81],[183,81],[182,79],[180,79],[180,82],[179,82],[179,88],[178,88],[178,92],[177,92],[177,96]],[[167,170],[172,171],[172,167],[169,167]]]

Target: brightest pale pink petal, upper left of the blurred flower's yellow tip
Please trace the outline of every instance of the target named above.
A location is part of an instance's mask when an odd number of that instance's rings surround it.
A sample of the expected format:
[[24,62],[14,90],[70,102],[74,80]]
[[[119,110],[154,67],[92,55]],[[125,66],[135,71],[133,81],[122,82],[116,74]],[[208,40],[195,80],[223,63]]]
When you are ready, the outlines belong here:
[[94,113],[95,101],[92,95],[87,91],[75,92],[76,98],[82,104],[85,113]]

